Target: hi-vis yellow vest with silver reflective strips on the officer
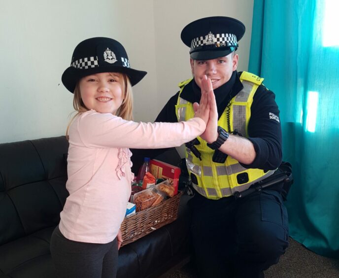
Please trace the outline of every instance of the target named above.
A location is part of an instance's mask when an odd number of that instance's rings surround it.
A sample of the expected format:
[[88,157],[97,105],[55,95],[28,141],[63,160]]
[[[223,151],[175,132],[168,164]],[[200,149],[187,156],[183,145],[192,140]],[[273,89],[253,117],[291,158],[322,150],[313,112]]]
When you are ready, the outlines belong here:
[[[180,97],[185,85],[192,79],[179,83],[180,92],[177,104],[175,105],[178,121],[186,121],[194,117],[193,104]],[[218,125],[227,132],[235,129],[244,137],[248,137],[247,127],[251,117],[251,104],[253,96],[264,78],[260,78],[252,73],[243,71],[240,75],[240,81],[243,89],[235,96],[225,109]],[[227,111],[229,109],[229,111]],[[228,117],[230,127],[228,127]],[[206,141],[198,137],[200,144],[195,145],[201,152],[201,159],[197,158],[189,148],[186,148],[186,165],[188,172],[197,177],[198,184],[193,183],[193,187],[201,195],[208,199],[220,199],[228,197],[235,192],[241,192],[250,187],[251,184],[258,182],[274,171],[264,171],[261,169],[246,169],[239,162],[228,156],[225,163],[215,163],[212,161],[214,150],[207,147]],[[244,178],[239,178],[239,177]]]

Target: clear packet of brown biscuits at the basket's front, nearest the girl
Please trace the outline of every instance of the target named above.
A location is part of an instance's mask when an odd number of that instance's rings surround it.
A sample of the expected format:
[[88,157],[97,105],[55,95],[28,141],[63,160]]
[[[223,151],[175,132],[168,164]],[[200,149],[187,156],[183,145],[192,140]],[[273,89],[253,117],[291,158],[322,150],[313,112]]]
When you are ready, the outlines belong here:
[[133,203],[136,205],[136,211],[141,211],[152,206],[160,204],[166,197],[155,187],[150,187],[134,194]]

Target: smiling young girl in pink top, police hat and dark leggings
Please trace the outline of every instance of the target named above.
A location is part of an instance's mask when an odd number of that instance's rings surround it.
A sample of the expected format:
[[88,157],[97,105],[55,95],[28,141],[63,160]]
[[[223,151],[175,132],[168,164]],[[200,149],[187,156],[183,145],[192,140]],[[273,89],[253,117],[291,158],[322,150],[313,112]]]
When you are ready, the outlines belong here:
[[132,86],[145,74],[130,68],[118,41],[95,37],[76,46],[62,76],[78,113],[68,127],[69,196],[51,239],[59,277],[116,276],[120,225],[134,177],[129,148],[179,146],[201,135],[210,109],[216,110],[211,90],[202,93],[195,118],[186,122],[133,122]]

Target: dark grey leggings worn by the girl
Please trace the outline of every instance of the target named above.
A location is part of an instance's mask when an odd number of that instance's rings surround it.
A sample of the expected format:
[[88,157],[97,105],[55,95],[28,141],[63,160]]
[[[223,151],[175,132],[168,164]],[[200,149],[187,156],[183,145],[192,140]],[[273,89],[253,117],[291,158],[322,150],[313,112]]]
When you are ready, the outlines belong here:
[[115,278],[118,269],[117,239],[110,243],[68,240],[57,226],[51,238],[51,255],[59,278]]

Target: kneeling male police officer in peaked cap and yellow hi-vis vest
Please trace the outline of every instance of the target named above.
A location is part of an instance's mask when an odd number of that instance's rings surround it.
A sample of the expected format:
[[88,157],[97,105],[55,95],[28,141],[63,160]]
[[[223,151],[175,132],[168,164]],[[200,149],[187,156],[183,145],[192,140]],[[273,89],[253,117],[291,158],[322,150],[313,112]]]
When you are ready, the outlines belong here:
[[[245,26],[229,17],[207,17],[181,32],[190,47],[193,78],[156,121],[193,117],[202,90],[213,90],[205,133],[186,144],[186,165],[195,191],[192,242],[197,273],[203,278],[264,277],[288,246],[288,218],[279,186],[235,198],[268,178],[281,163],[281,127],[274,94],[263,78],[237,72],[238,41]],[[205,86],[206,75],[211,84]]]

